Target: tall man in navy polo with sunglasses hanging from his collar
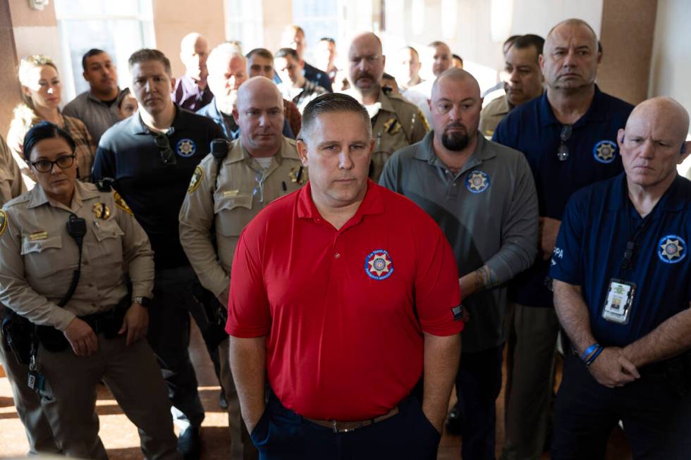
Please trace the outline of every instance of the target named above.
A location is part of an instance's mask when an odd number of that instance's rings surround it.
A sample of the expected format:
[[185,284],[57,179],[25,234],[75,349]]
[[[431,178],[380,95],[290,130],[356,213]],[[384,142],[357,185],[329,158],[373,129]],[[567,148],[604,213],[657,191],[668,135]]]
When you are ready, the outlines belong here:
[[[539,458],[546,438],[558,321],[552,304],[549,256],[566,201],[585,185],[621,172],[616,133],[630,104],[595,85],[597,37],[582,20],[547,35],[540,67],[546,92],[511,111],[493,140],[522,151],[535,179],[540,253],[513,282],[508,331],[506,460]],[[537,308],[536,308],[537,307]]]

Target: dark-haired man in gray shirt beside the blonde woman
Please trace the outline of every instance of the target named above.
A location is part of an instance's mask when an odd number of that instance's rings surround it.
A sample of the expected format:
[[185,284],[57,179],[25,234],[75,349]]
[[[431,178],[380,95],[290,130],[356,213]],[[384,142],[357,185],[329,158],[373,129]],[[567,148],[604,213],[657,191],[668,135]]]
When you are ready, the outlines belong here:
[[82,56],[82,68],[82,76],[89,82],[89,91],[75,97],[62,113],[82,120],[94,144],[98,145],[103,133],[120,121],[118,108],[130,90],[118,87],[118,70],[111,56],[102,49],[87,51]]

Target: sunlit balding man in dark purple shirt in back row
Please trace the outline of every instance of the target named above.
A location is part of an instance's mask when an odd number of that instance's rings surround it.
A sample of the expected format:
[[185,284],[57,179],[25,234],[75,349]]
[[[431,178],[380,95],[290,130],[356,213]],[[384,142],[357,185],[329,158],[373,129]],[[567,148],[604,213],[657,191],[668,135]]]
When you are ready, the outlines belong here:
[[180,42],[180,60],[185,65],[185,75],[178,78],[173,89],[173,101],[193,112],[209,104],[214,94],[207,87],[207,39],[197,32],[185,35]]

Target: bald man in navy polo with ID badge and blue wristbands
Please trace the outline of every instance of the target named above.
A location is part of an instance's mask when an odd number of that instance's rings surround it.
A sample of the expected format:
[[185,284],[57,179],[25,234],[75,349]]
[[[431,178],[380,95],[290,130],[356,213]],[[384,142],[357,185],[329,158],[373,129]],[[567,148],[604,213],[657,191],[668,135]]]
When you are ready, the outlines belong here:
[[566,207],[550,273],[574,353],[552,459],[603,458],[620,420],[634,458],[661,458],[668,432],[691,416],[676,410],[691,388],[691,182],[676,171],[691,153],[688,126],[673,99],[642,102],[618,132],[625,174]]

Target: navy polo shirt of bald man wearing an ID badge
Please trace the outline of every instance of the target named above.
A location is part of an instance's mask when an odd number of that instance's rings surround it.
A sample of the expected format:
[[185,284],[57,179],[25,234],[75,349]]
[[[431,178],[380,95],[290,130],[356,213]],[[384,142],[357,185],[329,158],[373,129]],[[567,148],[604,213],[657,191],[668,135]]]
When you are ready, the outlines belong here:
[[[582,287],[590,326],[600,344],[624,347],[689,308],[690,204],[691,182],[677,176],[637,238],[632,267],[623,270],[626,243],[643,222],[628,198],[625,174],[582,189],[570,199],[550,275]],[[602,318],[612,278],[636,284],[628,325]]]

